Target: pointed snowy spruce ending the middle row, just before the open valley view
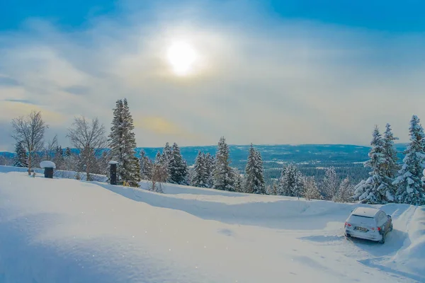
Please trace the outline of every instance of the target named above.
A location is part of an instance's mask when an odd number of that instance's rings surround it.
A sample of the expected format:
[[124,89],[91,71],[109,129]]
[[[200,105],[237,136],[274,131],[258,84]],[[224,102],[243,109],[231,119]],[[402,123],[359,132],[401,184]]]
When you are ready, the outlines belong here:
[[266,183],[264,181],[263,161],[259,151],[254,149],[254,146],[249,148],[248,159],[245,167],[245,192],[255,194],[266,193]]

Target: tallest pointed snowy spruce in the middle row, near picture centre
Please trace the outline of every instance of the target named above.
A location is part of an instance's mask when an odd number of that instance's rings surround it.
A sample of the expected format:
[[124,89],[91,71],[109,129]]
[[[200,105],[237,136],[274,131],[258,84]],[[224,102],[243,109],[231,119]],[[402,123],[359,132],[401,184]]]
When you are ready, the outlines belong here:
[[229,160],[229,146],[225,137],[218,141],[217,153],[215,155],[215,167],[212,173],[214,188],[217,190],[233,190],[234,180]]

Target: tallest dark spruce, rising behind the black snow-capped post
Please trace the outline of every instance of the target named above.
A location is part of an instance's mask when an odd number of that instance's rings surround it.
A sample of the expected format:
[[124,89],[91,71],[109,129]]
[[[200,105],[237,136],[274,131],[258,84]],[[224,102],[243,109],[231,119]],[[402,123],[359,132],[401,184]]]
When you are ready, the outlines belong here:
[[137,144],[127,99],[117,100],[113,115],[109,147],[111,148],[111,159],[118,161],[117,179],[132,187],[138,187],[140,163],[135,156]]

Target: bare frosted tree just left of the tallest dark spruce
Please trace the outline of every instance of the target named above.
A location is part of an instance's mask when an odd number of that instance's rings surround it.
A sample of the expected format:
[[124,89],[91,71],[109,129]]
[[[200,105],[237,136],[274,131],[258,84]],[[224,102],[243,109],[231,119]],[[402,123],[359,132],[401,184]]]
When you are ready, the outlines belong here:
[[96,156],[100,154],[108,144],[105,127],[98,118],[89,122],[84,116],[75,117],[72,127],[68,129],[67,137],[75,148],[79,149],[81,166],[86,171],[86,180],[91,181],[91,175],[98,166]]

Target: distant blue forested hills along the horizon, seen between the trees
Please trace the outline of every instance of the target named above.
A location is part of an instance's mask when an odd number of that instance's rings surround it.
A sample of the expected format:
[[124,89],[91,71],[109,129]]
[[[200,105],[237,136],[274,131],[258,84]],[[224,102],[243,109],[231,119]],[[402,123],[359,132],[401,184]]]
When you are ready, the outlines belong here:
[[[396,144],[399,151],[399,161],[402,161],[402,151],[407,144]],[[324,177],[325,168],[333,166],[339,178],[349,177],[352,184],[356,184],[368,177],[370,169],[363,166],[368,160],[369,146],[356,146],[346,144],[301,144],[301,145],[258,145],[255,146],[261,153],[264,166],[266,184],[270,185],[273,180],[280,178],[284,164],[293,163],[306,176],[314,176],[317,180]],[[136,155],[139,157],[143,149],[146,156],[154,160],[157,148],[137,148]],[[189,166],[195,162],[198,151],[215,155],[217,146],[183,146],[181,155],[186,159]],[[229,145],[231,166],[244,172],[249,145]],[[73,150],[76,151],[76,150]],[[0,165],[11,165],[13,153],[0,153]]]

